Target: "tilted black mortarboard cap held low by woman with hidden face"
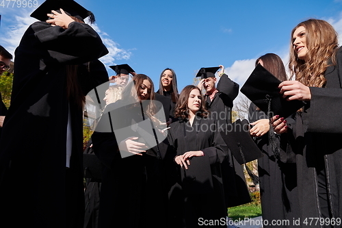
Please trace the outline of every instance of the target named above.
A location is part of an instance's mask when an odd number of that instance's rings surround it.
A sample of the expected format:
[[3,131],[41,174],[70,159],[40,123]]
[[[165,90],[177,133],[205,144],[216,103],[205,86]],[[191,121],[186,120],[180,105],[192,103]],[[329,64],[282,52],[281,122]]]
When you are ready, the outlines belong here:
[[263,153],[250,136],[250,125],[246,119],[238,119],[226,127],[226,131],[220,131],[221,136],[239,164],[263,157]]

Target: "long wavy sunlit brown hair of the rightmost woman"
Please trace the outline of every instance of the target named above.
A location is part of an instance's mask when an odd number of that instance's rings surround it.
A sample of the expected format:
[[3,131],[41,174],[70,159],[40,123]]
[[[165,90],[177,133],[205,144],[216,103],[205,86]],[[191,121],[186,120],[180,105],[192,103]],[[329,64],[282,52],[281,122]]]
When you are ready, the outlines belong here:
[[[293,33],[303,26],[306,30],[307,60],[298,59],[293,49]],[[318,19],[309,19],[299,23],[291,31],[289,69],[291,77],[295,77],[305,86],[324,87],[326,79],[324,72],[329,66],[329,60],[336,64],[335,56],[338,47],[337,32],[328,22]]]

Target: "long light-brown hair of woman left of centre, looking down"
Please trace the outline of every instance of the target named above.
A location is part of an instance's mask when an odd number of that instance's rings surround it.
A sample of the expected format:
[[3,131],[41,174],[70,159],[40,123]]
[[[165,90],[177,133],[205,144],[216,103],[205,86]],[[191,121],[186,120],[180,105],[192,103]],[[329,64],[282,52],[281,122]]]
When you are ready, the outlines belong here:
[[122,101],[125,103],[129,104],[136,104],[137,102],[140,101],[140,99],[137,96],[137,92],[140,89],[140,86],[142,86],[142,82],[144,80],[148,80],[150,82],[150,93],[149,93],[149,98],[148,102],[144,101],[147,105],[144,107],[144,110],[146,111],[146,114],[148,114],[148,117],[152,118],[152,116],[156,112],[156,107],[155,107],[155,93],[154,91],[154,86],[153,86],[153,81],[148,77],[147,75],[143,74],[137,74],[133,77],[131,81],[127,84],[127,86],[124,88],[122,91]]

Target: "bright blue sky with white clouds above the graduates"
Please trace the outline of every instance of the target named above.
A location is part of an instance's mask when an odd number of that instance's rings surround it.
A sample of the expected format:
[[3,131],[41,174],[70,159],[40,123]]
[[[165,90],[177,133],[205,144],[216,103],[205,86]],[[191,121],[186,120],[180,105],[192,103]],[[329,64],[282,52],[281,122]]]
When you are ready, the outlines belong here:
[[[14,53],[25,29],[36,21],[29,18],[34,8],[12,8],[14,1],[7,7],[4,1],[0,44]],[[219,64],[242,86],[260,55],[276,53],[287,64],[291,29],[308,18],[329,21],[342,34],[341,0],[77,2],[96,16],[93,27],[109,48],[103,63],[129,64],[150,76],[155,90],[164,68],[174,69],[181,90],[194,83],[199,68]]]

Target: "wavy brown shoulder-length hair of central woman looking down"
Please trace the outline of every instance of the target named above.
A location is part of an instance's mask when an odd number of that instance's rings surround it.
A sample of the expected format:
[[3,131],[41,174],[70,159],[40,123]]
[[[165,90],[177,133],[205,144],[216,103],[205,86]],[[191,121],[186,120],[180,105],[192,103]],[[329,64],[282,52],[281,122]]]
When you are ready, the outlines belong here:
[[[179,94],[179,99],[174,109],[174,117],[181,118],[183,120],[189,118],[190,110],[189,107],[187,107],[187,103],[189,101],[190,92],[192,92],[192,90],[198,90],[198,92],[200,92],[200,89],[194,85],[185,86],[185,88],[183,88],[181,94]],[[196,112],[196,115],[201,117],[207,117],[209,111],[205,107],[205,98],[203,97],[202,92],[200,92],[200,99],[200,110]]]

